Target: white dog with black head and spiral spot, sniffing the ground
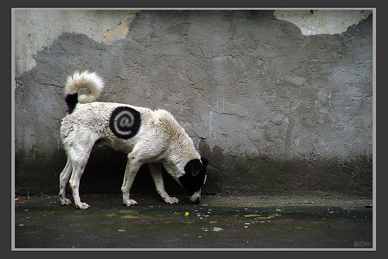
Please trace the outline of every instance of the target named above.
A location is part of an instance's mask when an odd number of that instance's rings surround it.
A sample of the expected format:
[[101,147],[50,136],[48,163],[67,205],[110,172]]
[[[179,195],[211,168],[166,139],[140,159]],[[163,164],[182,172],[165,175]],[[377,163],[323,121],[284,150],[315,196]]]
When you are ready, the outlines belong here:
[[[88,93],[78,97],[80,88]],[[81,202],[79,182],[93,146],[107,145],[127,154],[121,191],[127,206],[138,204],[129,198],[136,173],[144,163],[155,183],[156,192],[166,203],[178,203],[164,187],[161,166],[182,186],[192,203],[200,202],[201,187],[206,182],[209,160],[201,157],[193,140],[179,126],[170,112],[151,110],[120,103],[96,102],[104,88],[96,73],[75,72],[67,77],[65,101],[67,114],[62,119],[60,136],[67,163],[59,176],[59,199],[62,205],[72,202],[65,197],[69,182],[75,206],[89,208]]]

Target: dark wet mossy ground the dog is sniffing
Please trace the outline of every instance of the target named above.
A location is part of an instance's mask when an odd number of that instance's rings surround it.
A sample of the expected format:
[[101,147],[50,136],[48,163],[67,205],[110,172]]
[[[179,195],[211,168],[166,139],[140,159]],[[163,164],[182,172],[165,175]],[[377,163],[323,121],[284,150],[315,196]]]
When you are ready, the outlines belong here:
[[[15,250],[33,249],[373,249],[372,200],[81,195],[86,210],[57,196],[15,197]],[[70,196],[68,195],[68,198]]]

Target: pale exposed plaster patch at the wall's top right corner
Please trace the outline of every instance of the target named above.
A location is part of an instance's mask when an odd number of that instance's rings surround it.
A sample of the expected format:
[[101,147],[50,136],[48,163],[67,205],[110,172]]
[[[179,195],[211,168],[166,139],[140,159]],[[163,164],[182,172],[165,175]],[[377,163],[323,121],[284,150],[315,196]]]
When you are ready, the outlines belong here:
[[298,26],[303,35],[340,34],[368,18],[373,10],[276,10],[273,15]]

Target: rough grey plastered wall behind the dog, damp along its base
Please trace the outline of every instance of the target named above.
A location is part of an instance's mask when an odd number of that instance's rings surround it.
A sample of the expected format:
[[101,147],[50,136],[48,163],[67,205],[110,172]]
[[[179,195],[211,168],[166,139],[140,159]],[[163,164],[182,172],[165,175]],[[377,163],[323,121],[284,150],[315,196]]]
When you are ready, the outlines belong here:
[[[210,160],[205,194],[371,197],[372,11],[297,12],[16,10],[16,193],[58,193],[63,85],[88,69],[99,101],[175,116]],[[80,192],[120,193],[125,164],[95,147]]]

